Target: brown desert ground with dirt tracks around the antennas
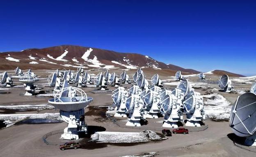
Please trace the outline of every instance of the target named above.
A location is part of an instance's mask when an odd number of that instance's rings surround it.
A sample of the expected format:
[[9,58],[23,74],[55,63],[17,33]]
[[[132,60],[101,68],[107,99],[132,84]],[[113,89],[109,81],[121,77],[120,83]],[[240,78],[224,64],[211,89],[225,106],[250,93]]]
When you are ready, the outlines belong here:
[[[23,70],[25,71],[25,70]],[[33,70],[40,78],[46,78],[54,70]],[[97,74],[99,71],[89,71],[90,74]],[[1,71],[2,72],[2,71]],[[1,73],[0,72],[0,73]],[[120,70],[110,70],[110,72],[116,72],[120,74]],[[127,71],[131,77],[135,70]],[[14,73],[9,71],[8,73]],[[161,73],[161,70],[144,71],[148,80],[155,73],[160,75],[160,79],[164,82],[164,88],[176,87],[179,82],[174,80],[173,74]],[[42,124],[30,124],[26,122],[19,122],[8,128],[2,128],[0,130],[0,156],[4,157],[122,157],[122,156],[157,156],[157,157],[252,157],[256,154],[255,148],[238,147],[233,143],[233,132],[229,127],[229,113],[231,106],[235,102],[236,98],[245,93],[251,88],[255,78],[240,78],[230,77],[235,86],[237,93],[223,93],[214,91],[213,88],[219,89],[217,84],[211,84],[207,82],[199,81],[197,75],[184,75],[189,80],[195,91],[201,93],[201,95],[222,95],[219,104],[209,104],[211,102],[209,97],[204,97],[204,101],[208,102],[205,105],[207,110],[207,119],[205,124],[208,126],[206,130],[191,131],[189,134],[176,134],[168,137],[162,141],[152,141],[139,144],[104,144],[89,142],[80,149],[77,150],[60,150],[59,144],[63,144],[66,141],[59,139],[61,133],[48,137],[48,141],[57,145],[47,145],[43,142],[43,135],[55,131],[63,130],[66,127],[65,122],[61,123],[42,123]],[[206,80],[217,81],[219,75],[206,73]],[[149,81],[150,82],[150,81]],[[14,84],[18,87],[0,87],[0,100],[1,106],[9,105],[47,105],[50,97],[38,97],[38,96],[24,96],[24,87],[18,82],[17,78],[14,78]],[[50,94],[53,92],[53,88],[48,86],[47,79],[42,79],[36,84],[41,87],[42,91]],[[131,84],[122,84],[127,87]],[[112,91],[115,87],[108,86]],[[102,130],[116,131],[116,132],[139,132],[144,128],[152,130],[156,133],[161,133],[163,117],[158,119],[147,119],[149,124],[142,128],[131,128],[125,126],[125,120],[127,118],[117,118],[115,120],[106,117],[106,106],[112,105],[111,92],[108,93],[92,93],[96,88],[82,88],[89,97],[93,97],[93,102],[85,109],[85,119],[88,126],[98,126]],[[214,92],[213,92],[214,91]],[[211,93],[212,92],[212,93]],[[218,99],[218,97],[217,97]],[[227,103],[226,106],[222,106],[222,103]],[[215,106],[216,105],[216,106]],[[97,107],[98,106],[98,107]],[[230,111],[229,111],[230,112]],[[7,110],[0,109],[0,115],[9,114],[40,114],[40,113],[59,113],[56,109],[44,109],[41,111],[31,110]],[[119,122],[119,123],[116,123]],[[97,127],[94,127],[97,128]],[[82,140],[82,139],[81,139]]]

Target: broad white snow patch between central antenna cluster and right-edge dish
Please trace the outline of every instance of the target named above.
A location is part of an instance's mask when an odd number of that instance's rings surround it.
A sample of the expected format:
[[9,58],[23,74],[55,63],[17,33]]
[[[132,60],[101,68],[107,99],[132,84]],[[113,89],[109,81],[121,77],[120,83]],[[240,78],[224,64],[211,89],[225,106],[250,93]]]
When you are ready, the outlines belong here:
[[214,121],[228,121],[230,116],[231,107],[228,100],[220,94],[214,93],[211,95],[202,95],[208,98],[204,101],[204,109],[206,117]]

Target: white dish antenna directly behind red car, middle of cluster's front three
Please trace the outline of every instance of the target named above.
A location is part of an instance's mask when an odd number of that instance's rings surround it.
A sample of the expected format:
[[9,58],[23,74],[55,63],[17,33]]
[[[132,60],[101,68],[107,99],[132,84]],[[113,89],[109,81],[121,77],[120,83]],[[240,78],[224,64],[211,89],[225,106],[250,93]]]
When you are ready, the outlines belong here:
[[183,121],[183,115],[180,111],[181,102],[172,94],[165,95],[160,102],[160,111],[164,117],[162,127],[178,128],[178,122]]

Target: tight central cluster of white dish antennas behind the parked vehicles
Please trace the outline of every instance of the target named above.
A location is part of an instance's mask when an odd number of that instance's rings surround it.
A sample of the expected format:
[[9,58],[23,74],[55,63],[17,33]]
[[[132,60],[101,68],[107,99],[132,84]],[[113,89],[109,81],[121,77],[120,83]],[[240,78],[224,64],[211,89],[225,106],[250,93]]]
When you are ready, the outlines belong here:
[[163,127],[177,128],[183,122],[183,113],[187,115],[186,126],[201,126],[205,119],[203,98],[194,92],[189,82],[183,79],[172,90],[162,89],[159,75],[151,78],[151,86],[144,73],[138,69],[133,75],[136,85],[127,91],[119,86],[112,92],[115,106],[115,117],[128,117],[127,126],[141,126],[140,121],[146,118],[158,118],[164,115]]

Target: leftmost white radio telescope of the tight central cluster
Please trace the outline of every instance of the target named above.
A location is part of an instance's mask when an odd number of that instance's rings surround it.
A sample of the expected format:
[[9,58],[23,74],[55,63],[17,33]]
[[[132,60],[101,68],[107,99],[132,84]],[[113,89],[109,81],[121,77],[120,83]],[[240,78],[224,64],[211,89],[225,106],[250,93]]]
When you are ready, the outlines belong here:
[[127,96],[128,92],[121,86],[118,86],[117,89],[112,92],[112,99],[114,101],[114,106],[116,106],[114,117],[126,117],[125,109]]

